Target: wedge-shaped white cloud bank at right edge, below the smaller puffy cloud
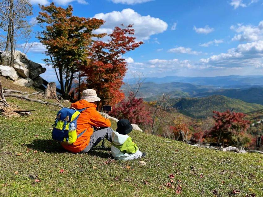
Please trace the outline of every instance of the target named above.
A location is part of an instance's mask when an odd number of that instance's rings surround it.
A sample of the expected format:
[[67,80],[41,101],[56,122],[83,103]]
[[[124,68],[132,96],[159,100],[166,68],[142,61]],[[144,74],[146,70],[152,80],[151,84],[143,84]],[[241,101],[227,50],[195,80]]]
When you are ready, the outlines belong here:
[[200,59],[201,65],[223,67],[242,67],[263,65],[263,40],[239,44],[236,48],[229,49],[226,53],[213,55],[207,59]]

